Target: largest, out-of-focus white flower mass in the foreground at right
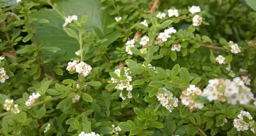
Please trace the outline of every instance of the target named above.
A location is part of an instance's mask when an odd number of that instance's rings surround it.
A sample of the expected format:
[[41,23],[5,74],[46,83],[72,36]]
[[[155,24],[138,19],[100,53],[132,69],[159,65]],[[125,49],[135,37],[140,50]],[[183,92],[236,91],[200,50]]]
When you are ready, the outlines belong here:
[[251,89],[246,87],[239,77],[234,78],[233,81],[229,79],[209,80],[209,84],[203,90],[203,96],[207,96],[209,101],[227,101],[233,105],[237,102],[247,104],[253,99]]

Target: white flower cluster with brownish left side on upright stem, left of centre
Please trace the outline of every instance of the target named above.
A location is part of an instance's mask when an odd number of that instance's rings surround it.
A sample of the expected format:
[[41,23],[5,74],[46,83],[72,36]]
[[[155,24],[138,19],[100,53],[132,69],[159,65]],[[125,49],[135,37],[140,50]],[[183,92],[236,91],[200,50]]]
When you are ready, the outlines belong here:
[[77,73],[80,73],[86,77],[88,74],[91,73],[91,66],[86,64],[85,62],[79,63],[79,61],[73,61],[68,63],[67,70],[75,70]]

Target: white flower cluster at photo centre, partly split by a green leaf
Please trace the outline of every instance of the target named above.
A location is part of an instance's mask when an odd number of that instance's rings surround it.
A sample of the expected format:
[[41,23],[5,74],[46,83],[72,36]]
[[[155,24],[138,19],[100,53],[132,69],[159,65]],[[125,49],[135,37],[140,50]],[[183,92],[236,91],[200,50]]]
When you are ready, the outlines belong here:
[[[118,89],[118,90],[123,90],[124,88],[126,88],[127,91],[131,91],[132,90],[132,85],[130,85],[130,81],[132,80],[131,79],[131,76],[129,76],[129,71],[130,69],[129,68],[126,68],[124,67],[125,69],[125,74],[124,76],[127,77],[127,79],[125,80],[119,80],[119,79],[114,79],[113,77],[111,77],[111,80],[112,80],[112,83],[118,83],[115,87],[115,89]],[[118,77],[120,77],[120,71],[121,69],[116,69],[114,72],[118,75]]]

